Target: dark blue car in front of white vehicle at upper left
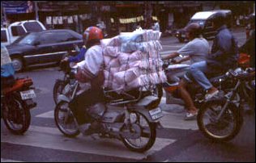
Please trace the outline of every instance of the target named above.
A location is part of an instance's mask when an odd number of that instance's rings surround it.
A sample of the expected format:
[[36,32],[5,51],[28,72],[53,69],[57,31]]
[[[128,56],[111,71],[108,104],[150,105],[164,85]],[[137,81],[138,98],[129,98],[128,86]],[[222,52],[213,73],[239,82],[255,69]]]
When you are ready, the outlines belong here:
[[59,62],[74,45],[83,46],[82,35],[71,30],[47,30],[31,32],[9,46],[11,61],[16,71],[28,65]]

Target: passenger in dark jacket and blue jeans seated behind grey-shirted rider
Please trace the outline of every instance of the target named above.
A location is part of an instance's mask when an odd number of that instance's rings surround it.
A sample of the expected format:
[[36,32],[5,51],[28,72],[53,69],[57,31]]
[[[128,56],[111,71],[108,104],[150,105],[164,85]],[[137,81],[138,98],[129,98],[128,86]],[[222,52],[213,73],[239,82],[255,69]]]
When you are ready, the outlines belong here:
[[188,76],[192,76],[204,90],[207,91],[205,99],[208,100],[218,94],[219,90],[211,85],[206,75],[224,73],[228,69],[237,67],[238,48],[237,40],[228,30],[224,13],[216,13],[212,18],[212,25],[217,29],[213,40],[211,54],[207,61],[200,61],[190,66]]

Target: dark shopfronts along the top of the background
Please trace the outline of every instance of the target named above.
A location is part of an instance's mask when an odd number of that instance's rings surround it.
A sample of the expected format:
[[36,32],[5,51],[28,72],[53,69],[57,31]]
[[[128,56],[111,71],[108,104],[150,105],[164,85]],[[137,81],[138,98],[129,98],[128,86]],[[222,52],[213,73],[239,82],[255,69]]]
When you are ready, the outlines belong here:
[[[29,7],[29,4],[32,4]],[[27,6],[26,6],[27,5]],[[16,7],[11,9],[11,7]],[[23,7],[23,8],[22,8]],[[28,9],[30,10],[28,12]],[[255,12],[254,1],[1,1],[1,19],[8,23],[39,19],[48,29],[69,28],[82,33],[103,23],[104,31],[117,34],[136,27],[151,28],[159,21],[160,31],[186,26],[195,12],[228,9],[237,24]]]

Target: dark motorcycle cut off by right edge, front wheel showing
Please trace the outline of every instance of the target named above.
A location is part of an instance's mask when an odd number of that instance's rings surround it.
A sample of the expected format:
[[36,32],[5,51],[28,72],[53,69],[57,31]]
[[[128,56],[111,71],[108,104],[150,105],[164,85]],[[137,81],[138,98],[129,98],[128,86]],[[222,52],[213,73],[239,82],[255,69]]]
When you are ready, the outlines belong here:
[[[224,94],[224,98],[205,102],[198,111],[197,123],[203,135],[215,141],[232,140],[241,130],[243,123],[243,100],[248,100],[255,109],[255,69],[235,69],[225,74],[226,80],[236,84]],[[236,96],[241,97],[237,100]]]

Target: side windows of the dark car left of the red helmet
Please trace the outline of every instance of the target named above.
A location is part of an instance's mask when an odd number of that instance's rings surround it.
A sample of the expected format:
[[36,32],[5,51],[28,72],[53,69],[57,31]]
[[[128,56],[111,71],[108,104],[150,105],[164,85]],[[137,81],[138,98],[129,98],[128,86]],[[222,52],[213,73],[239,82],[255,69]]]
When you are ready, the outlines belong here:
[[66,31],[53,31],[41,35],[41,44],[62,43],[71,40],[79,40]]

